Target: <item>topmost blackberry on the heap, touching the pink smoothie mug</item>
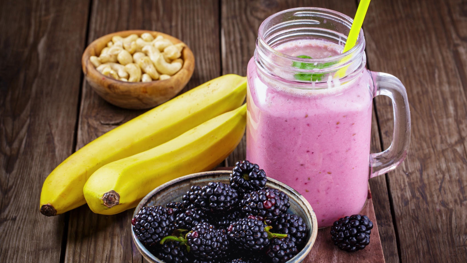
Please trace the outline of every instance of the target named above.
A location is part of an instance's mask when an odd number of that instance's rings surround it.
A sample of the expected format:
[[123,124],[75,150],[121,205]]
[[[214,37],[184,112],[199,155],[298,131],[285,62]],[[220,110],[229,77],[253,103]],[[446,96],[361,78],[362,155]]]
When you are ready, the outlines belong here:
[[229,175],[230,186],[235,189],[240,196],[247,192],[260,190],[266,186],[268,179],[264,170],[256,163],[247,160],[238,161]]

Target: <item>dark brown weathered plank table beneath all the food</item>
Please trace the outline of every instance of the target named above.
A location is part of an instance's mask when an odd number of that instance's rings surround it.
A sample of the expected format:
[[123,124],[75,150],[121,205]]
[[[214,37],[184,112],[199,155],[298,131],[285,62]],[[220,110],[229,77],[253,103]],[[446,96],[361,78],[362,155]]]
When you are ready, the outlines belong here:
[[[81,206],[39,213],[44,179],[60,162],[143,111],[114,107],[83,79],[81,55],[105,34],[158,30],[193,50],[187,91],[245,76],[257,29],[291,7],[354,16],[354,0],[42,0],[0,3],[0,262],[142,262],[132,210]],[[407,88],[412,113],[404,163],[372,178],[387,263],[467,262],[467,1],[373,0],[363,25],[367,67]],[[392,140],[390,100],[375,99],[372,151]],[[245,140],[224,165],[245,157]]]

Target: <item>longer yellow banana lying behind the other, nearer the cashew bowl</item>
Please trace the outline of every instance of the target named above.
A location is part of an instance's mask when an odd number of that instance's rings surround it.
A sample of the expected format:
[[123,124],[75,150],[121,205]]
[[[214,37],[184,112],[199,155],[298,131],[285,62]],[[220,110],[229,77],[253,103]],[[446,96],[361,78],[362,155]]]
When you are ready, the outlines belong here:
[[214,78],[114,128],[69,156],[45,179],[40,210],[47,216],[85,204],[83,186],[107,163],[154,148],[220,114],[239,107],[246,78]]

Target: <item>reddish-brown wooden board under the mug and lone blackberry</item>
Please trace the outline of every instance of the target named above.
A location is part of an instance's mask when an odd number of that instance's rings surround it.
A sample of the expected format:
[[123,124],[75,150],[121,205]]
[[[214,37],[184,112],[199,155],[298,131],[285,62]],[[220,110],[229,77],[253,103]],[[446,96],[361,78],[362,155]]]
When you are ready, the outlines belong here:
[[[217,167],[216,171],[232,170],[233,167]],[[353,253],[342,251],[331,241],[331,227],[318,229],[318,236],[304,263],[385,263],[382,253],[381,239],[376,223],[373,199],[368,186],[368,199],[361,214],[368,216],[373,222],[370,244],[363,250]]]

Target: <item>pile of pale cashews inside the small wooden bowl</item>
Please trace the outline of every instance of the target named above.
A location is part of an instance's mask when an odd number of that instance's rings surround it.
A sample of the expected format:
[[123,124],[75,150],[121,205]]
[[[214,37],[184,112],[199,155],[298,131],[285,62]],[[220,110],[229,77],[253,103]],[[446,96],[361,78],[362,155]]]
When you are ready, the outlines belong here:
[[121,37],[102,49],[99,57],[89,60],[103,75],[127,82],[164,80],[177,73],[183,65],[184,43],[173,44],[169,39],[150,33]]

